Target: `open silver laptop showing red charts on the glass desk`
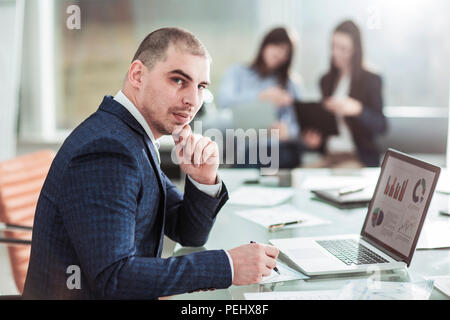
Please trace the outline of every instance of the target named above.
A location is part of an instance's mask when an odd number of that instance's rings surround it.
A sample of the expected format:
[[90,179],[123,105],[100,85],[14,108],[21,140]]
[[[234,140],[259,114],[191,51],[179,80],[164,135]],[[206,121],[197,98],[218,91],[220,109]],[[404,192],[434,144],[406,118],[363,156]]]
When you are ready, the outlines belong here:
[[411,263],[440,168],[389,149],[359,235],[272,239],[308,276],[403,269]]

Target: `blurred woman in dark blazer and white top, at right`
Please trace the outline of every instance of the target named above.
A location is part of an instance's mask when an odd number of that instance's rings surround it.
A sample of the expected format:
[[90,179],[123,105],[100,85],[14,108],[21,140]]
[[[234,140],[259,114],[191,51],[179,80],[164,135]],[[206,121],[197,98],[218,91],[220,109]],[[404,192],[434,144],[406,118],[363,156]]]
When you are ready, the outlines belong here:
[[323,139],[305,128],[302,139],[325,156],[315,167],[376,167],[377,135],[387,130],[382,80],[363,66],[361,34],[352,21],[337,26],[332,37],[330,70],[320,80],[323,104],[336,115],[339,134]]

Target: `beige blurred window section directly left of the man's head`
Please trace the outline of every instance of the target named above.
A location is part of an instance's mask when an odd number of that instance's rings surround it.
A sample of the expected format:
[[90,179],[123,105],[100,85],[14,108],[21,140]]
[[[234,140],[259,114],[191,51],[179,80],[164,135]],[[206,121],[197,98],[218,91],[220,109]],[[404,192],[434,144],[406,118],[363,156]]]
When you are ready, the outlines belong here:
[[56,52],[62,84],[56,106],[57,128],[73,128],[93,113],[106,94],[120,89],[136,45],[133,4],[129,0],[57,2],[57,24],[66,8],[80,8],[80,29],[61,28]]

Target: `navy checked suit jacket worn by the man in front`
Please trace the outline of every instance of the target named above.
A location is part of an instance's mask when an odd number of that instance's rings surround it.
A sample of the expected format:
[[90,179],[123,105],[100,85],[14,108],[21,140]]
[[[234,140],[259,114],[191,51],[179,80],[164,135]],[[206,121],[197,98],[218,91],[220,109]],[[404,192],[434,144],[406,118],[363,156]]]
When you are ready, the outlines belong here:
[[167,259],[161,251],[164,234],[202,246],[227,200],[225,185],[213,198],[189,179],[181,194],[160,170],[141,125],[105,96],[52,163],[36,209],[23,297],[155,299],[226,288],[232,279],[225,251]]

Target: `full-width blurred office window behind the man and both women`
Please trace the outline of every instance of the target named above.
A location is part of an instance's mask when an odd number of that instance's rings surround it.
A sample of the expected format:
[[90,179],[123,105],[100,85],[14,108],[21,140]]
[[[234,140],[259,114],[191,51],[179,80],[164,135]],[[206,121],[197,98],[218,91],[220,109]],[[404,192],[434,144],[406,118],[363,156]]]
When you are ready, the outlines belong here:
[[[46,130],[49,122],[53,123],[53,129],[47,130],[50,133],[78,125],[97,109],[103,95],[116,93],[139,42],[163,26],[187,28],[205,43],[213,57],[213,93],[231,64],[254,58],[270,28],[290,27],[299,39],[293,71],[303,78],[303,95],[314,98],[319,96],[318,81],[329,65],[331,33],[339,22],[350,18],[361,27],[366,61],[383,75],[387,106],[448,106],[447,0],[28,1],[26,58],[49,31],[34,30],[39,24],[36,20],[42,19],[36,18],[36,12],[45,10],[32,7],[41,3],[53,10],[45,17],[53,23],[54,59],[44,60],[53,63],[49,95],[54,97],[45,106],[39,105],[36,101],[43,100],[33,98],[39,80],[32,76],[24,80],[21,130],[30,134]],[[66,26],[66,10],[73,4],[80,8],[81,28],[72,30]],[[29,76],[28,64],[23,75]],[[46,111],[42,124],[36,126],[33,114],[39,115],[39,110]]]

